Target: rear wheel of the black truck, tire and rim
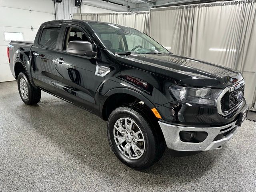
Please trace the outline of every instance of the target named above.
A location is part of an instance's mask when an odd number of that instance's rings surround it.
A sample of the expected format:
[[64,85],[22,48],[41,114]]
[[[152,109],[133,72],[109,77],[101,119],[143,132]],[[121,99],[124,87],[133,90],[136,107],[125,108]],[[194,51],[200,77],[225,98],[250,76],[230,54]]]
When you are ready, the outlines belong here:
[[18,75],[18,90],[20,98],[27,105],[37,104],[41,99],[41,90],[34,88],[26,73],[21,72]]

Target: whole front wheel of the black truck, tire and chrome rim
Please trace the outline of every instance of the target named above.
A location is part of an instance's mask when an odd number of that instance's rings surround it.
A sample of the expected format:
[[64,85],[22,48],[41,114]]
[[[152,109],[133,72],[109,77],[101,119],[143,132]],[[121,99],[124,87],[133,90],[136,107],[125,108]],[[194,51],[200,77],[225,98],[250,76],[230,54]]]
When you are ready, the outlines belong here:
[[110,114],[108,141],[117,158],[136,170],[152,166],[166,148],[156,117],[138,103],[121,106]]

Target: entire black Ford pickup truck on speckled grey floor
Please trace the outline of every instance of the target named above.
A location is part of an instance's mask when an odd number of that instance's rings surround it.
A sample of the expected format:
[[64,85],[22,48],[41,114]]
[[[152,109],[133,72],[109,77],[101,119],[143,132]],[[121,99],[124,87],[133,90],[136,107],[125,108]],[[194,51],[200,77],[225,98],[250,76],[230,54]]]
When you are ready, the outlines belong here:
[[246,118],[240,72],[172,54],[133,28],[50,21],[34,42],[11,41],[7,51],[25,104],[37,104],[43,90],[108,120],[114,154],[137,170],[166,146],[221,148]]

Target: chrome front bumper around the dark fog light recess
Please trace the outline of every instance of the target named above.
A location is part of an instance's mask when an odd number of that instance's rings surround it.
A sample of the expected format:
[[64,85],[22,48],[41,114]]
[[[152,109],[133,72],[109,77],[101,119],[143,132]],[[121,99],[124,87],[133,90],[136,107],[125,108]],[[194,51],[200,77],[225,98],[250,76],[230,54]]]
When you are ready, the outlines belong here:
[[[158,121],[158,123],[164,134],[167,147],[177,151],[207,151],[216,149],[218,146],[228,142],[240,128],[236,125],[237,121],[221,127],[185,127],[166,124],[160,121]],[[224,131],[220,131],[223,129]],[[230,130],[232,131],[226,136],[222,137],[222,139],[213,141],[218,134],[222,134]],[[203,142],[200,143],[183,142],[180,140],[180,131],[207,132],[208,136]]]

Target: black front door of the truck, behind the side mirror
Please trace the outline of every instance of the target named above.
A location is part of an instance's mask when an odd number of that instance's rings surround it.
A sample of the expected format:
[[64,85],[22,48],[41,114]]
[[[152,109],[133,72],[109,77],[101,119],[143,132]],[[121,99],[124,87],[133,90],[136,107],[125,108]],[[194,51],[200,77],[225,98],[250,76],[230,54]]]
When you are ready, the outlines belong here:
[[66,52],[70,41],[93,42],[81,26],[73,24],[65,26],[61,39],[61,50],[58,50],[54,57],[56,94],[93,112],[96,60]]

